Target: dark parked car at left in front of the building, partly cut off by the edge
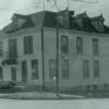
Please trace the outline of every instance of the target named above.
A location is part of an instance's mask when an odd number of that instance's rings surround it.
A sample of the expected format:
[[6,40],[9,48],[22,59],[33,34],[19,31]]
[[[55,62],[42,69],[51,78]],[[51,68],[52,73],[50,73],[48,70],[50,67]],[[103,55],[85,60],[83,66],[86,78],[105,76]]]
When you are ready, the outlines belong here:
[[13,81],[0,81],[0,89],[12,88],[15,86],[15,82]]

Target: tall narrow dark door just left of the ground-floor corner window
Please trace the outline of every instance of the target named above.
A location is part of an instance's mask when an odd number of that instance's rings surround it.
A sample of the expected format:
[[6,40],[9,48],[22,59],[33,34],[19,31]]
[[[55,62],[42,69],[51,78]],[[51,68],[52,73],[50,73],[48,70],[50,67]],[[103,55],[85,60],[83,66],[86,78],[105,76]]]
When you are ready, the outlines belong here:
[[27,82],[27,62],[22,61],[22,82]]

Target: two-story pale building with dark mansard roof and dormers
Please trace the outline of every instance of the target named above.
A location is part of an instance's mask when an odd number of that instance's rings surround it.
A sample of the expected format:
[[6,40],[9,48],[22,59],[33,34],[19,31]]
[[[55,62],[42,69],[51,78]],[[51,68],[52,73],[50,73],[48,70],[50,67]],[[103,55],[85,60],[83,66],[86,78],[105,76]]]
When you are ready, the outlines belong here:
[[104,21],[68,10],[14,14],[0,38],[0,78],[55,86],[58,56],[60,87],[106,88],[109,27]]

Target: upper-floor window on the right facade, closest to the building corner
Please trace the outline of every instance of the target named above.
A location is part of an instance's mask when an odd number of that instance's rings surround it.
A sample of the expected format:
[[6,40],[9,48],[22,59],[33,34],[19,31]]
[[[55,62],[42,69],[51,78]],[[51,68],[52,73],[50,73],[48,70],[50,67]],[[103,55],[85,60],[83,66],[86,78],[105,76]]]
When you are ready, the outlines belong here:
[[61,50],[64,53],[69,52],[69,43],[68,43],[68,36],[61,37]]

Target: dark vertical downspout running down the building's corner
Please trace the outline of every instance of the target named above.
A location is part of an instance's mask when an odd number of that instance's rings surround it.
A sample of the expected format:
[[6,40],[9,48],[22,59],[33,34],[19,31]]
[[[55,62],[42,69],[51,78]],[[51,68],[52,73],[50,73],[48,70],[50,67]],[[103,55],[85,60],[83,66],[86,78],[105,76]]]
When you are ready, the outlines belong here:
[[45,56],[44,56],[44,28],[41,27],[41,62],[43,62],[43,90],[45,90]]

